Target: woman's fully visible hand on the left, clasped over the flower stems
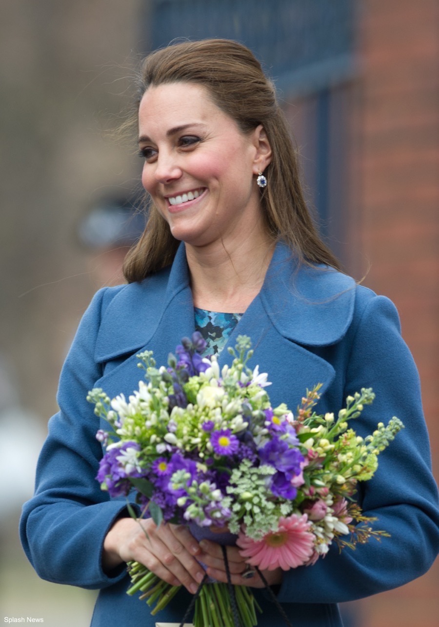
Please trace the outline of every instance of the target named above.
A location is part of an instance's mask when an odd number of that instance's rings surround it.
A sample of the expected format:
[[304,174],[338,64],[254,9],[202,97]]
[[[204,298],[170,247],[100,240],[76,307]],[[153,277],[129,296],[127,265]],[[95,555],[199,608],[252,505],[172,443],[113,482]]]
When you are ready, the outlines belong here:
[[197,540],[183,525],[157,527],[152,519],[121,518],[105,537],[102,566],[108,572],[135,560],[168,584],[183,585],[195,594],[205,574],[195,559],[200,555]]

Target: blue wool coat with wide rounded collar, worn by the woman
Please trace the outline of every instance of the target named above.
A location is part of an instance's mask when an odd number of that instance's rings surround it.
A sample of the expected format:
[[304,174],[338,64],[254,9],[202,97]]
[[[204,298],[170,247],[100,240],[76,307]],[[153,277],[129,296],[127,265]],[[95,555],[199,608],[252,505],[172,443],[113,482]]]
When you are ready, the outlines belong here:
[[[86,311],[61,373],[60,411],[49,422],[39,459],[36,492],[24,505],[21,539],[39,576],[100,589],[93,627],[154,626],[147,605],[125,594],[123,569],[108,577],[101,547],[125,509],[95,480],[102,456],[99,428],[86,394],[102,387],[111,398],[138,386],[136,354],[153,350],[158,364],[194,331],[194,308],[185,249],[171,268],[142,283],[100,290]],[[380,455],[374,478],[359,498],[377,529],[391,534],[355,551],[331,547],[314,566],[284,574],[279,601],[294,627],[340,627],[336,604],[401,586],[423,574],[436,557],[439,513],[431,475],[428,435],[415,364],[401,339],[398,314],[385,297],[327,268],[297,266],[279,243],[261,292],[242,316],[228,345],[249,335],[250,366],[269,373],[272,404],[295,409],[306,388],[321,382],[321,413],[338,411],[348,394],[373,387],[376,400],[354,427],[368,435],[380,421],[398,416],[405,424]],[[227,349],[219,362],[230,361]],[[274,604],[256,592],[264,609],[261,627],[281,625]],[[180,622],[190,595],[182,590],[157,617]]]

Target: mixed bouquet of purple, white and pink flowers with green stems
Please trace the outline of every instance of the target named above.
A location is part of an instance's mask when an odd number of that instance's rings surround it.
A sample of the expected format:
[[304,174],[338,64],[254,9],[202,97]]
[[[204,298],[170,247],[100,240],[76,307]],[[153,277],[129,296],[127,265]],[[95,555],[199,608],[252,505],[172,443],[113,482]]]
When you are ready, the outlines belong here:
[[[373,477],[378,454],[403,428],[398,418],[378,423],[366,438],[349,420],[371,404],[371,389],[346,399],[346,408],[318,415],[320,384],[307,391],[295,414],[272,407],[267,374],[247,365],[250,339],[239,336],[234,360],[220,369],[202,357],[199,333],[184,338],[168,366],[156,367],[152,352],[138,355],[147,381],[130,398],[114,399],[93,389],[88,401],[112,431],[98,431],[105,446],[96,477],[111,497],[134,491],[140,517],[157,525],[178,522],[224,527],[246,562],[261,574],[310,566],[329,546],[354,548],[385,531],[374,530],[354,500],[357,482]],[[130,503],[130,514],[138,518]],[[138,562],[129,564],[132,586],[155,614],[178,587]],[[230,592],[234,599],[230,598]],[[249,587],[209,582],[195,603],[195,627],[233,627],[231,604],[243,627],[257,624]]]

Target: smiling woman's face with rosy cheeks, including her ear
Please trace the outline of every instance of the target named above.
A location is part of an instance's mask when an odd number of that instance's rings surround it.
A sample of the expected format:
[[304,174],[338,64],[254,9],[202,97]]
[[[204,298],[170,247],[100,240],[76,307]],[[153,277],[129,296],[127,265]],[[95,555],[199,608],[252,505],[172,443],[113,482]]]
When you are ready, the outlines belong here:
[[257,173],[271,150],[261,126],[244,135],[204,87],[150,87],[139,108],[143,187],[177,240],[193,246],[262,224]]

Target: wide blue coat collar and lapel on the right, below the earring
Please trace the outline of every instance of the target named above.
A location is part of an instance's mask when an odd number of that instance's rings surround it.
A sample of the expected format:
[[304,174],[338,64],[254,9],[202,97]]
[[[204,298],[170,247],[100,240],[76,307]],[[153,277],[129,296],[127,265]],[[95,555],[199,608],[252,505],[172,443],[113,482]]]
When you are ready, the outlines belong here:
[[324,394],[335,377],[333,366],[313,352],[335,344],[351,323],[355,282],[326,267],[297,265],[291,249],[278,243],[259,295],[230,335],[219,362],[230,361],[228,347],[238,335],[252,340],[249,366],[267,372],[273,404],[296,409],[307,389],[321,383]]

